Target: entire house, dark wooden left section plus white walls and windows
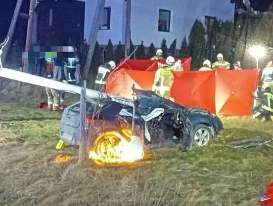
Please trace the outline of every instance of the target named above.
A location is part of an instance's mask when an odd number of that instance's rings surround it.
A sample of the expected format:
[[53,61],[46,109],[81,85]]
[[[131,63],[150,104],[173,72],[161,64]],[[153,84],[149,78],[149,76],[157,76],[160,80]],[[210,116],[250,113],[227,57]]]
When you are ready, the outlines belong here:
[[[68,37],[77,41],[88,39],[100,0],[40,0],[38,7],[38,40]],[[106,45],[125,41],[125,0],[106,0],[101,28],[97,40]],[[134,45],[144,41],[160,47],[165,38],[169,46],[177,39],[177,47],[196,19],[205,16],[232,20],[234,4],[230,0],[131,0],[131,39]],[[68,20],[67,20],[68,19]],[[59,40],[58,40],[59,41]]]

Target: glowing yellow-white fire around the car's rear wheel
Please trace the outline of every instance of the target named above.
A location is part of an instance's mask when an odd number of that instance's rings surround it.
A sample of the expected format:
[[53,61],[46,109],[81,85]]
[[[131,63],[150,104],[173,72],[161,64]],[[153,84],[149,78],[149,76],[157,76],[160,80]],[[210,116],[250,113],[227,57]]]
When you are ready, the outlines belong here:
[[96,138],[94,149],[89,151],[89,158],[97,164],[121,163],[141,160],[144,147],[140,137],[132,136],[131,131],[123,129],[102,132]]

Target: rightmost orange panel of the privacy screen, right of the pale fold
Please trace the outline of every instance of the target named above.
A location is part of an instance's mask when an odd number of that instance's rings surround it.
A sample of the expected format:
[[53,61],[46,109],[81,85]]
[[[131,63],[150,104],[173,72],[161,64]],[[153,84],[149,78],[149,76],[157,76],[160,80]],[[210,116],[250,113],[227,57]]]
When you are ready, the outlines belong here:
[[216,70],[216,113],[251,115],[252,92],[256,90],[258,81],[257,69]]

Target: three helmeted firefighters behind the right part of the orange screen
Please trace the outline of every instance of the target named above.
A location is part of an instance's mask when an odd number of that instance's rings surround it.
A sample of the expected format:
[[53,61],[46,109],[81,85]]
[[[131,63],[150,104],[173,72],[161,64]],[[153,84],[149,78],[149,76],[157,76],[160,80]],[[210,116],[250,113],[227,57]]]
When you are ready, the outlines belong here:
[[[241,62],[239,61],[235,62],[233,66],[235,70],[242,70]],[[211,65],[211,62],[208,59],[206,59],[203,62],[203,66],[199,69],[199,71],[210,71],[216,68],[222,68],[222,69],[231,68],[231,64],[223,59],[223,55],[221,53],[217,55],[217,61],[214,62],[212,65]]]

